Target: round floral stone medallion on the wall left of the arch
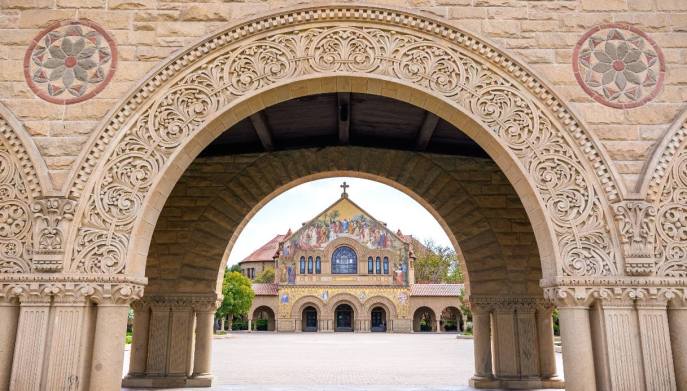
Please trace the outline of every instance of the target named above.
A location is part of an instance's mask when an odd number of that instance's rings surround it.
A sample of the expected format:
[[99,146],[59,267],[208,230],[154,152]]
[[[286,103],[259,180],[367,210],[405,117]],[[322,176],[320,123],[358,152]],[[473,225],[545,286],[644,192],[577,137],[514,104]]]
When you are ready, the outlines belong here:
[[36,95],[57,104],[94,97],[112,79],[117,48],[87,19],[55,23],[34,38],[24,56],[24,77]]

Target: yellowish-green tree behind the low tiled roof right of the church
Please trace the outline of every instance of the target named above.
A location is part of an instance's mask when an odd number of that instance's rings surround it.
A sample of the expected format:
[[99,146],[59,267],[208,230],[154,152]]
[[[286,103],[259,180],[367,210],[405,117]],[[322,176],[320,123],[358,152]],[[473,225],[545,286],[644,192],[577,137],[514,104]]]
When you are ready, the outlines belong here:
[[455,250],[431,240],[416,246],[415,280],[424,284],[460,284],[465,281]]

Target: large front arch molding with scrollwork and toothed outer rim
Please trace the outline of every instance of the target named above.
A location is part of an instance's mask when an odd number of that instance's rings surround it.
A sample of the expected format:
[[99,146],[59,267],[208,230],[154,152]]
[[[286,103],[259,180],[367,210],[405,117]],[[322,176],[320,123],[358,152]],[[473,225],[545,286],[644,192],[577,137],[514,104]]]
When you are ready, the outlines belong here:
[[342,5],[239,24],[179,55],[133,93],[77,172],[70,194],[84,202],[69,271],[126,273],[127,254],[145,252],[130,245],[151,189],[170,166],[190,163],[182,150],[229,107],[280,84],[337,75],[410,86],[489,130],[489,142],[531,178],[555,238],[558,274],[622,270],[606,205],[620,190],[592,136],[550,89],[492,45],[446,24]]

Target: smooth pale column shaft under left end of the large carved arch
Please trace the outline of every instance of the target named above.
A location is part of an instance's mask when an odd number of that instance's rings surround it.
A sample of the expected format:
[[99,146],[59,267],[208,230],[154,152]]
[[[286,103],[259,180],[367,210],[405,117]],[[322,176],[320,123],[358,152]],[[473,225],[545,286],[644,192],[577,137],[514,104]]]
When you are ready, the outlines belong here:
[[99,304],[93,339],[93,362],[89,389],[115,391],[122,388],[124,336],[128,304]]

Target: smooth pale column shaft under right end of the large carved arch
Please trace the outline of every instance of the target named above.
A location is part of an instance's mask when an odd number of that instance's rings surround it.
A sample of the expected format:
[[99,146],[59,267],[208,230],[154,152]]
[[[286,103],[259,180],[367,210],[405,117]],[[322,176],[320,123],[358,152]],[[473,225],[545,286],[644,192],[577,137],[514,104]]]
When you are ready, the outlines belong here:
[[592,334],[589,308],[561,307],[561,339],[565,389],[568,391],[596,390]]

